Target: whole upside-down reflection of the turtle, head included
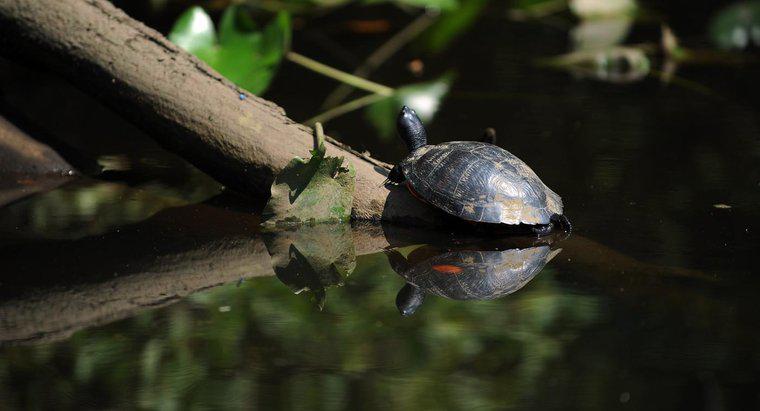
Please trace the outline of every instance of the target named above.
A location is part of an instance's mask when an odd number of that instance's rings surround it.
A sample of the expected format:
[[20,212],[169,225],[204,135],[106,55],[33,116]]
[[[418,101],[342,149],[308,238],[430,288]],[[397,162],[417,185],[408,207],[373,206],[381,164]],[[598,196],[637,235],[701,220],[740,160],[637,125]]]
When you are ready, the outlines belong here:
[[396,296],[403,316],[414,314],[425,294],[452,300],[491,300],[523,288],[562,251],[549,245],[506,250],[440,249],[422,246],[408,258],[395,249],[385,254],[406,280]]

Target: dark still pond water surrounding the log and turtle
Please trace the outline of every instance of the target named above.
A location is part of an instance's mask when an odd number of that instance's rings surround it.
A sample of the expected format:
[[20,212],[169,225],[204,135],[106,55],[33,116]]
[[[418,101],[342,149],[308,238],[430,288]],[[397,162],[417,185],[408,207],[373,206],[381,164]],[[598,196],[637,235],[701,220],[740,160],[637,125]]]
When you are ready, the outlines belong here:
[[[659,9],[706,47],[717,8]],[[222,193],[60,81],[5,67],[2,107],[39,118],[65,93],[70,112],[38,127],[110,170],[0,209],[0,408],[758,408],[757,66],[578,78],[534,64],[567,51],[571,20],[489,11],[440,54],[418,40],[373,79],[454,73],[429,134],[494,127],[565,201],[576,230],[549,245],[390,226],[265,235],[260,201]],[[324,37],[360,61],[387,36],[335,27],[368,15],[308,20],[295,48],[350,69]],[[629,43],[657,30],[636,25]],[[422,79],[406,69],[417,57]],[[305,120],[334,86],[284,65],[267,97]],[[326,127],[400,159],[371,124],[359,111]],[[410,263],[465,245],[561,251],[507,296],[429,294],[401,316],[389,245]]]

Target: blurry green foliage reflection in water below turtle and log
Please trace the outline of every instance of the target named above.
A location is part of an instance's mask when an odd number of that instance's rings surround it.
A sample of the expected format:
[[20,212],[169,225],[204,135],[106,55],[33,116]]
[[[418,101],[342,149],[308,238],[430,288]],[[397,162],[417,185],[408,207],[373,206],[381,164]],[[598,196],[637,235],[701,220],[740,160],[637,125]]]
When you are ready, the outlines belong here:
[[[32,407],[504,408],[538,396],[547,367],[597,320],[594,299],[560,292],[547,271],[502,300],[431,298],[409,321],[393,307],[401,282],[384,260],[364,258],[321,313],[260,279],[55,345],[8,348],[0,396]],[[26,389],[10,391],[11,380]]]

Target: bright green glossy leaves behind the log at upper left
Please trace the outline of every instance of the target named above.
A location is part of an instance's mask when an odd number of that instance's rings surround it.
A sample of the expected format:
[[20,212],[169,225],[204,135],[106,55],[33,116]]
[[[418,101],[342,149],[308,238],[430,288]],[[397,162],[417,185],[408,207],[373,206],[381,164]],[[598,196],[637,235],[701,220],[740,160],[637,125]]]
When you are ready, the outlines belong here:
[[196,6],[180,16],[169,39],[233,83],[261,94],[289,48],[290,33],[288,13],[278,13],[259,30],[244,6],[228,7],[217,33],[208,14]]

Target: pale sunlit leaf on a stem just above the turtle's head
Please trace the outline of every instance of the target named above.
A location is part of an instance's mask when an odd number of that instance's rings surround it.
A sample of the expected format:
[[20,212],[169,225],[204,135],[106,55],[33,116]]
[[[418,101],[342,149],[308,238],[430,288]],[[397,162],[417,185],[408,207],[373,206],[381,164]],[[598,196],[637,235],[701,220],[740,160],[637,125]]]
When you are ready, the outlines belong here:
[[441,100],[449,92],[454,76],[445,74],[437,80],[400,87],[393,96],[382,99],[367,107],[366,116],[375,127],[380,138],[388,139],[396,129],[396,115],[399,108],[407,105],[413,108],[423,122],[433,119]]

